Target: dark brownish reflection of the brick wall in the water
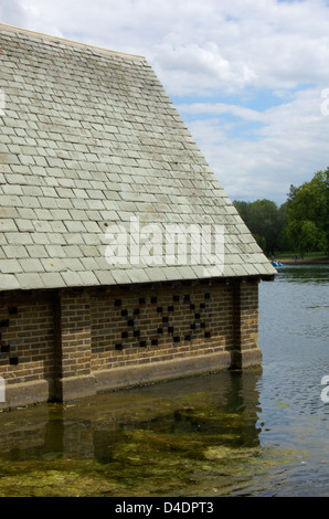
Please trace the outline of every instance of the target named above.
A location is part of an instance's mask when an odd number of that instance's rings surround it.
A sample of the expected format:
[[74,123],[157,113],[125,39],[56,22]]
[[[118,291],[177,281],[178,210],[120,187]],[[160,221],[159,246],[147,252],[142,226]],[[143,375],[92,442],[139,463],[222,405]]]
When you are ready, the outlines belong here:
[[190,441],[201,453],[213,446],[253,447],[258,445],[258,371],[221,372],[156,384],[147,393],[136,389],[132,399],[128,391],[67,409],[42,405],[34,413],[30,407],[20,420],[3,414],[0,458],[110,463],[125,445],[145,448],[147,443],[159,451],[173,443],[183,451],[191,449]]

